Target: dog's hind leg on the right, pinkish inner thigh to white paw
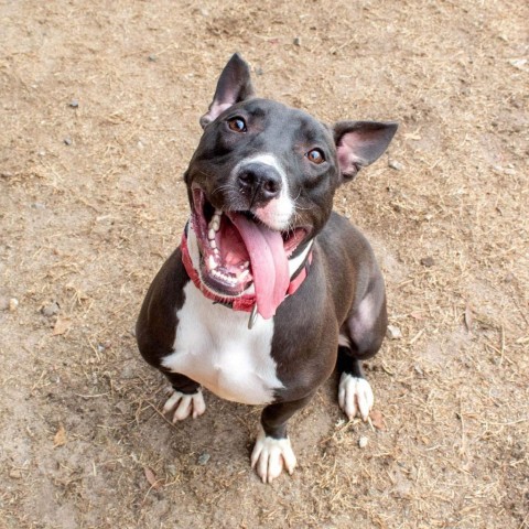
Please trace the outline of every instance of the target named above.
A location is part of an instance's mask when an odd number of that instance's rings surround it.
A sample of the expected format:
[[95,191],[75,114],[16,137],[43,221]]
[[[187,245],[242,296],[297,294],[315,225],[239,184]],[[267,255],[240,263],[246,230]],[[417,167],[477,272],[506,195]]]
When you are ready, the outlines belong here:
[[375,356],[380,348],[388,316],[381,277],[376,278],[367,294],[342,326],[338,339],[337,370],[341,374],[338,403],[349,420],[357,414],[367,421],[373,408],[371,386],[360,361]]

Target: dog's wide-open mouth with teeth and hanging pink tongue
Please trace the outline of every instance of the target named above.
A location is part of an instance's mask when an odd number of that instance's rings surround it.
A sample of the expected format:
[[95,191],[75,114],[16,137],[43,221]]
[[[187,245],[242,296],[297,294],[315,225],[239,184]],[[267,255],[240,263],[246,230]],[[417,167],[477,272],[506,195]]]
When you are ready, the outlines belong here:
[[258,312],[271,317],[290,283],[289,257],[309,230],[277,231],[250,212],[217,209],[199,187],[193,188],[192,223],[206,287],[229,299],[253,283]]

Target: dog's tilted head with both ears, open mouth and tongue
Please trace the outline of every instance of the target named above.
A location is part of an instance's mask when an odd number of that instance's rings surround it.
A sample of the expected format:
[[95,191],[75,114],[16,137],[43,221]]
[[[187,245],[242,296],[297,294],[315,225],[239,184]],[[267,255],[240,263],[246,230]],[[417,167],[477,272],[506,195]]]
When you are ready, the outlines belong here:
[[397,125],[327,127],[256,98],[248,65],[237,54],[201,125],[204,133],[185,173],[195,267],[203,283],[227,299],[253,284],[259,312],[270,317],[284,298],[289,261],[325,225],[335,190],[382,154]]

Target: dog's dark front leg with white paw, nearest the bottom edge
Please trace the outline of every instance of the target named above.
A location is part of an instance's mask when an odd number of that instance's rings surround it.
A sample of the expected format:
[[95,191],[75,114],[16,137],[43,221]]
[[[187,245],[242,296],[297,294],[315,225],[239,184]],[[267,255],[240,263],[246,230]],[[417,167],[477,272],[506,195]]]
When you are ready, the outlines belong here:
[[256,468],[262,483],[271,483],[283,467],[289,474],[296,464],[290,439],[287,434],[287,421],[312,398],[312,395],[291,402],[277,402],[262,410],[261,425],[251,453],[251,467]]

